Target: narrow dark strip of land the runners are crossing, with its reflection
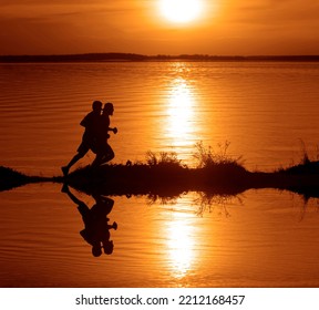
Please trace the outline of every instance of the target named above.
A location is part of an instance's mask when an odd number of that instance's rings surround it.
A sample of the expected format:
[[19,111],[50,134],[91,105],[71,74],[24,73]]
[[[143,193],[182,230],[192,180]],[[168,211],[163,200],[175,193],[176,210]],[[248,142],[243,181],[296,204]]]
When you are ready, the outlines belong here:
[[88,194],[178,196],[185,192],[237,195],[250,188],[290,190],[306,199],[319,198],[319,162],[272,173],[249,172],[236,162],[188,168],[178,163],[86,166],[68,176],[27,176],[0,167],[0,190],[30,183],[54,182]]

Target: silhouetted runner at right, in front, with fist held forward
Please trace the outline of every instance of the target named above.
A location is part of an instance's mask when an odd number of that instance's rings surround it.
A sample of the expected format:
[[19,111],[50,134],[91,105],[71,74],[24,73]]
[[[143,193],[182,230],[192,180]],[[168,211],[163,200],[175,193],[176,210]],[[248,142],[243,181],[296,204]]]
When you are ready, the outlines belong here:
[[100,122],[96,124],[97,127],[95,130],[96,136],[96,146],[93,152],[96,153],[96,157],[92,163],[93,167],[100,166],[112,161],[115,156],[112,147],[107,143],[110,138],[109,132],[113,132],[114,134],[117,133],[117,128],[111,128],[110,124],[110,116],[114,113],[114,106],[111,102],[104,104],[102,115],[100,116]]

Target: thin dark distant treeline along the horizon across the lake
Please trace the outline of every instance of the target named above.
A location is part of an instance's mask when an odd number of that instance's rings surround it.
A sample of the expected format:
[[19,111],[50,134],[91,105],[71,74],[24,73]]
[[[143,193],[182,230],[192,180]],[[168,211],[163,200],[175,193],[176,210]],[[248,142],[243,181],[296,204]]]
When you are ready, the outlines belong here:
[[317,62],[319,55],[142,55],[134,53],[88,53],[63,55],[0,55],[0,62],[116,62],[116,61],[303,61]]

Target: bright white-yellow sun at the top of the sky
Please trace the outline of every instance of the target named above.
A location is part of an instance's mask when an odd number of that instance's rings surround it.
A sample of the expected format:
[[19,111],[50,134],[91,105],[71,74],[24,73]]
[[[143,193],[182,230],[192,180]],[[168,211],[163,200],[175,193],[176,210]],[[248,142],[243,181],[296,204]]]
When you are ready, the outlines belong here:
[[160,0],[162,16],[174,23],[196,20],[203,12],[203,0]]

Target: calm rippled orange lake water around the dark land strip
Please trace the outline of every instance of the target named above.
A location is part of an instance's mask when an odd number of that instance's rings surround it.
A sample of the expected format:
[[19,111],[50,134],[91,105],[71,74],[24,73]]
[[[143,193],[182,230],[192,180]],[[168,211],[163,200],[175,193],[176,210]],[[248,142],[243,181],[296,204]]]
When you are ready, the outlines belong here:
[[[195,144],[250,170],[318,156],[319,63],[150,62],[0,64],[0,165],[61,175],[93,100],[114,103],[114,163]],[[90,164],[88,154],[74,168]],[[89,207],[94,199],[70,188]],[[274,189],[238,197],[113,196],[112,255],[93,257],[60,184],[0,193],[1,287],[318,287],[317,200]],[[210,199],[210,205],[207,199]]]

